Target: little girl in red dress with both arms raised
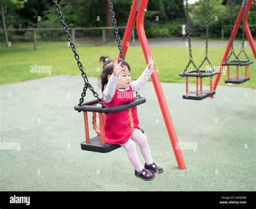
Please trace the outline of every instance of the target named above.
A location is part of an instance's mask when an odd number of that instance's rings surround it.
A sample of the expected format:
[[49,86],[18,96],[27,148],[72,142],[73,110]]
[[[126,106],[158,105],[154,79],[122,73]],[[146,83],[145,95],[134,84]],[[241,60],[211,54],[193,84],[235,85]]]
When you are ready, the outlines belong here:
[[[149,56],[147,59],[149,64],[146,69],[136,81],[132,82],[131,69],[125,60],[110,60],[106,56],[100,57],[100,61],[104,64],[100,82],[103,102],[106,107],[116,107],[134,101],[133,92],[140,90],[154,72],[154,60]],[[164,170],[153,163],[147,137],[140,131],[138,124],[137,107],[106,114],[105,142],[120,144],[126,150],[127,156],[135,168],[135,176],[143,180],[153,180],[156,178],[154,173],[163,173]],[[144,167],[139,162],[134,142],[139,144],[140,151],[146,161]]]

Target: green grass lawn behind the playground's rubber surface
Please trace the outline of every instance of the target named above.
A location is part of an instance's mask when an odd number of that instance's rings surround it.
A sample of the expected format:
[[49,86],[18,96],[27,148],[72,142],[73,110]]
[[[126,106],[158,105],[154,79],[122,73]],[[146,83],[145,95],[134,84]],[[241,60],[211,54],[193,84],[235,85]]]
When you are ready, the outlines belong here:
[[[235,48],[239,50],[239,48]],[[253,59],[250,48],[246,48],[248,56]],[[77,45],[85,72],[88,76],[100,75],[102,64],[99,57],[102,54],[114,58],[118,54],[116,46],[89,46]],[[161,82],[185,82],[178,74],[187,65],[187,47],[151,47],[155,59],[158,75]],[[208,50],[209,58],[214,66],[219,66],[225,47],[211,47]],[[193,47],[193,59],[198,64],[204,57],[204,47]],[[126,61],[131,66],[132,79],[137,79],[146,67],[143,51],[140,47],[130,47]],[[71,48],[64,42],[39,42],[38,50],[33,51],[33,43],[13,43],[11,47],[0,44],[0,84],[26,81],[49,76],[46,73],[30,73],[30,66],[51,66],[51,75],[79,75],[79,69],[73,58]],[[100,71],[98,70],[100,69]],[[191,68],[192,69],[192,66]],[[233,70],[232,70],[233,69]],[[250,82],[237,85],[239,87],[255,88],[255,64],[250,66]],[[231,76],[235,75],[235,68],[231,68]],[[244,67],[241,74],[244,75]],[[81,78],[82,79],[82,78]],[[219,85],[225,85],[226,76],[221,76]],[[191,79],[194,82],[195,79]],[[205,79],[205,84],[209,80]],[[234,85],[236,86],[236,85]]]

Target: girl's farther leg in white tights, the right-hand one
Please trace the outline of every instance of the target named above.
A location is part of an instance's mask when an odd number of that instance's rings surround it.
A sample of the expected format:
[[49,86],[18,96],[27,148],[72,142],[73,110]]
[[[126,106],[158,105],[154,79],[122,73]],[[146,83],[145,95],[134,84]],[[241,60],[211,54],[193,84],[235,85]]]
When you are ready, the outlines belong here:
[[139,144],[140,151],[146,161],[147,165],[153,163],[149,143],[147,142],[147,137],[137,128],[134,128],[131,135],[131,139]]

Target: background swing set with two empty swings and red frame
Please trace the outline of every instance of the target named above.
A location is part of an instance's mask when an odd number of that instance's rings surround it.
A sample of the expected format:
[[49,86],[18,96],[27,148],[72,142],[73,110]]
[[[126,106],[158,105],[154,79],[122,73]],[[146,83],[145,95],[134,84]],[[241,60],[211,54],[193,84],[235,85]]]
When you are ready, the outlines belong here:
[[[189,52],[189,58],[190,60],[188,61],[187,66],[185,67],[183,73],[180,73],[179,75],[182,77],[186,77],[186,94],[183,95],[183,99],[191,99],[191,100],[203,100],[207,97],[213,97],[215,94],[215,90],[218,86],[218,82],[221,76],[221,73],[223,72],[223,66],[227,66],[227,80],[225,80],[225,83],[236,83],[240,84],[243,82],[246,82],[250,80],[249,75],[250,75],[250,69],[249,65],[253,63],[253,61],[250,61],[248,58],[248,55],[245,52],[245,32],[247,34],[248,40],[250,41],[250,45],[252,48],[252,51],[254,53],[255,57],[255,45],[254,41],[250,32],[250,29],[248,27],[247,23],[247,17],[248,17],[248,12],[251,9],[253,0],[243,0],[242,5],[240,8],[240,12],[237,18],[237,21],[235,22],[235,26],[232,31],[233,27],[233,0],[228,0],[228,5],[229,5],[229,10],[230,10],[230,41],[227,45],[226,52],[224,54],[223,60],[221,61],[221,66],[219,68],[219,72],[214,69],[214,67],[211,64],[211,61],[208,59],[207,54],[208,54],[208,35],[209,35],[209,26],[210,26],[210,0],[205,0],[207,3],[207,11],[206,11],[206,41],[205,41],[205,58],[201,62],[201,64],[197,67],[197,65],[193,61],[192,57],[192,46],[191,46],[191,30],[190,30],[190,18],[188,16],[188,1],[185,1],[186,5],[186,21],[187,21],[187,38],[188,38],[188,52]],[[242,46],[241,50],[238,55],[235,54],[234,48],[233,48],[233,41],[235,38],[235,35],[237,34],[238,27],[240,25],[242,19]],[[228,53],[230,52],[230,55]],[[239,56],[244,53],[245,57],[247,60],[240,60]],[[231,55],[234,55],[235,60],[229,61],[231,58]],[[228,55],[228,56],[227,56]],[[210,70],[205,70],[205,69],[200,69],[201,66],[204,64],[204,62],[207,61],[208,64],[210,65],[211,69]],[[187,68],[190,66],[190,64],[193,64],[194,68],[191,71],[187,71]],[[236,66],[237,67],[237,75],[235,77],[230,77],[230,66]],[[239,76],[239,66],[245,66],[245,76]],[[215,82],[213,83],[213,76],[217,75],[217,78],[215,79]],[[196,90],[190,90],[188,89],[188,77],[196,77]],[[202,83],[203,83],[203,78],[205,77],[210,77],[210,90],[203,90],[202,89]],[[199,89],[199,80],[200,78],[200,89]]]

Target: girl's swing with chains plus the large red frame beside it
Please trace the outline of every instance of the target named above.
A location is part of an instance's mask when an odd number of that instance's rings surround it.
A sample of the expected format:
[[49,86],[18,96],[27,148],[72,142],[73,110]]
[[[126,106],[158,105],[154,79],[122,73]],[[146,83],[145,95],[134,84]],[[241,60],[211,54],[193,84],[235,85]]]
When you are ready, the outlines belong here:
[[[116,34],[117,44],[118,44],[118,48],[119,48],[119,58],[122,58],[122,59],[125,58],[127,49],[129,47],[129,44],[127,44],[127,43],[130,43],[132,30],[133,30],[134,24],[136,22],[138,37],[140,40],[140,44],[142,45],[145,60],[147,62],[147,55],[151,56],[151,52],[150,52],[149,44],[147,43],[147,38],[146,38],[145,31],[144,31],[144,17],[145,17],[145,13],[147,11],[146,7],[147,7],[149,0],[133,0],[130,16],[129,16],[129,19],[127,22],[127,26],[126,26],[123,41],[122,41],[122,45],[120,45],[120,38],[118,36],[118,28],[117,28],[116,19],[114,19],[113,5],[110,0],[108,0],[108,2],[109,2],[110,10],[111,10],[114,32]],[[67,37],[68,41],[70,41],[70,47],[74,53],[75,59],[77,60],[79,70],[82,72],[82,77],[85,82],[83,92],[82,92],[81,98],[79,100],[79,104],[75,106],[75,109],[78,112],[81,112],[81,111],[84,112],[84,126],[85,126],[86,140],[85,140],[85,142],[81,143],[81,148],[89,150],[89,151],[96,151],[96,152],[109,152],[114,149],[117,149],[120,147],[119,145],[112,145],[112,144],[107,144],[104,142],[104,128],[103,128],[104,114],[129,109],[131,107],[134,107],[134,106],[144,103],[146,100],[145,100],[145,98],[143,98],[137,94],[137,96],[136,96],[137,99],[131,103],[127,103],[125,105],[114,107],[114,108],[106,108],[105,107],[102,99],[99,98],[98,93],[95,92],[95,90],[93,89],[93,87],[91,86],[91,84],[89,83],[89,81],[87,79],[87,75],[84,72],[83,65],[79,60],[79,55],[76,52],[75,44],[73,44],[73,42],[72,42],[72,38],[70,36],[68,26],[66,25],[65,19],[62,15],[62,12],[60,11],[58,1],[53,0],[53,3],[55,3],[56,11],[59,15],[60,22],[62,22],[63,29],[66,32],[66,37]],[[161,88],[158,74],[156,72],[156,66],[154,66],[154,72],[151,75],[151,79],[153,82],[154,89],[156,90],[157,99],[158,99],[158,102],[159,102],[159,105],[161,108],[161,112],[164,117],[166,129],[167,129],[169,137],[170,137],[172,148],[173,148],[174,154],[176,156],[178,168],[186,169],[183,155],[181,154],[181,149],[179,148],[176,131],[173,127],[169,109],[168,109],[168,106],[167,106],[167,103],[165,100],[165,96],[163,93],[163,89]],[[97,98],[96,100],[84,102],[84,97],[86,95],[87,88],[89,88],[91,90],[91,92],[93,93],[93,96],[95,96]],[[97,103],[99,103],[102,107],[97,107]],[[91,139],[89,137],[87,112],[92,112],[94,118],[96,118],[96,113],[99,114],[99,129],[95,126],[96,125],[95,119],[93,122],[93,128],[95,128],[98,136],[91,138]]]

